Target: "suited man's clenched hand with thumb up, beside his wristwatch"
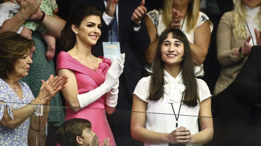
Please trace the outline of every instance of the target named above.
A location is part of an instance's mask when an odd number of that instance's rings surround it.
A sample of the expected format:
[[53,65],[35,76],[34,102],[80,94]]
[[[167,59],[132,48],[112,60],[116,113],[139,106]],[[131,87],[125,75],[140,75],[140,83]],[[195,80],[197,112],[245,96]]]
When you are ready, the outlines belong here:
[[134,24],[137,24],[141,18],[144,16],[144,14],[147,12],[147,9],[144,7],[145,0],[142,0],[141,4],[134,10],[131,16],[131,21]]

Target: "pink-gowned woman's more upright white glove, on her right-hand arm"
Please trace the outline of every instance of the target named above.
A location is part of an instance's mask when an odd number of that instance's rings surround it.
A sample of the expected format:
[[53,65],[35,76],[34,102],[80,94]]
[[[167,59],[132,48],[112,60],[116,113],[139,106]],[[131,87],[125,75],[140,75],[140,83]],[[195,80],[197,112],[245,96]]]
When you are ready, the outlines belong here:
[[117,100],[118,100],[118,87],[119,87],[119,76],[123,72],[123,67],[124,67],[124,62],[125,62],[125,53],[121,54],[121,58],[118,58],[119,61],[119,75],[118,75],[118,80],[116,81],[114,87],[110,90],[110,92],[107,93],[105,103],[110,106],[110,107],[115,107],[117,105]]

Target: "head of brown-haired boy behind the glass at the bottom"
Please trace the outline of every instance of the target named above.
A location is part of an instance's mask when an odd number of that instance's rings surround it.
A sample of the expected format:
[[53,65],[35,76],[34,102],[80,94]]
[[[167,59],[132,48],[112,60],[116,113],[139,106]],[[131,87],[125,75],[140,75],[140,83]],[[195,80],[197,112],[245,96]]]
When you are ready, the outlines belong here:
[[74,118],[65,121],[56,131],[60,146],[78,146],[92,143],[94,132],[89,120]]

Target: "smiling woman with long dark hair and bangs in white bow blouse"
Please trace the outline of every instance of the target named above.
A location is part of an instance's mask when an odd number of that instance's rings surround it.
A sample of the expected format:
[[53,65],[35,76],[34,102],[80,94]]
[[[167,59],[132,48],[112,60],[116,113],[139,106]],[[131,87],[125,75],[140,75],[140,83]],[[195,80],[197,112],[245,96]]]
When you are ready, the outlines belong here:
[[[142,78],[133,93],[131,135],[144,146],[211,141],[212,95],[206,83],[195,78],[191,56],[189,41],[179,29],[168,29],[160,36],[153,75]],[[197,116],[203,116],[200,132]]]

